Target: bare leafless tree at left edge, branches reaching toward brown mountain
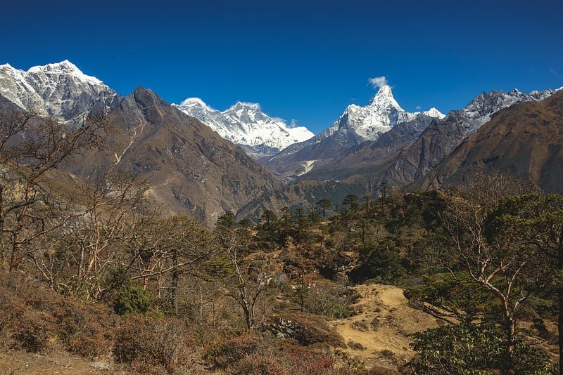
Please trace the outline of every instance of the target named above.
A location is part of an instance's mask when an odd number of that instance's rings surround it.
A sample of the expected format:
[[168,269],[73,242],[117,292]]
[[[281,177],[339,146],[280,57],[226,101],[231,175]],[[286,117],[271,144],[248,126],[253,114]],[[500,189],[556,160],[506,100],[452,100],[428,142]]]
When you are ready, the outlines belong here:
[[48,172],[80,150],[100,145],[107,126],[103,115],[61,124],[0,104],[0,235],[6,268],[19,268],[25,246],[74,216],[44,187]]

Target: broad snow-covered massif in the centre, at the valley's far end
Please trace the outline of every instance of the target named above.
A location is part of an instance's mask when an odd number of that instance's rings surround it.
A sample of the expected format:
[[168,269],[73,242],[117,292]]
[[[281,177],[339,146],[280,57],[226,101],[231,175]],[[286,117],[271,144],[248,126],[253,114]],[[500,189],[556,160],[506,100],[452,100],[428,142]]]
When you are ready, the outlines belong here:
[[[283,119],[268,116],[256,103],[239,102],[223,112],[213,110],[199,98],[188,98],[179,105],[173,105],[232,143],[250,146],[260,156],[277,153],[293,143],[315,136],[303,126],[290,127]],[[248,150],[248,147],[245,149]]]

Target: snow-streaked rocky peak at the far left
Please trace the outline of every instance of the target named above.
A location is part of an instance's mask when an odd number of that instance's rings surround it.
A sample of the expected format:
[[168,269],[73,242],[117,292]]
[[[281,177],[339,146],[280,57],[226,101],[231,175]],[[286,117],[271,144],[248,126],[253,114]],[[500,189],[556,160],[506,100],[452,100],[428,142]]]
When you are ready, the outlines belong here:
[[0,65],[0,95],[18,107],[27,110],[34,106],[63,121],[90,110],[108,110],[118,96],[68,60],[31,67],[27,72]]

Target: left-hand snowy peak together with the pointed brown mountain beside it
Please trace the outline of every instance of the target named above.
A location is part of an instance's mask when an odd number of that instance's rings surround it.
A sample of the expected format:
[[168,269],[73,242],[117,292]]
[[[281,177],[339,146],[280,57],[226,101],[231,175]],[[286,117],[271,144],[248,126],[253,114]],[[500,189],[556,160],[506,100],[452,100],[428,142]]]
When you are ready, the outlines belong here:
[[106,112],[112,125],[102,152],[86,152],[61,166],[80,178],[92,169],[123,171],[146,180],[165,214],[215,223],[217,216],[283,185],[240,147],[147,88],[122,97],[68,61],[27,72],[0,67],[0,100],[66,121]]

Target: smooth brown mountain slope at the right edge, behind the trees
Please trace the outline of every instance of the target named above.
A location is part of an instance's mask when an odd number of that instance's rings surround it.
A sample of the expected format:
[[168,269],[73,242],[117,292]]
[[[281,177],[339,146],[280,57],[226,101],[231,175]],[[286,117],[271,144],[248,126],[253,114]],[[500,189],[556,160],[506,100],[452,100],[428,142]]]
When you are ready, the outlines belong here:
[[538,103],[495,114],[422,180],[422,187],[455,185],[498,169],[528,178],[545,192],[563,192],[563,91]]

